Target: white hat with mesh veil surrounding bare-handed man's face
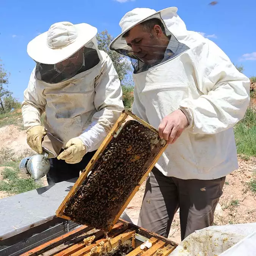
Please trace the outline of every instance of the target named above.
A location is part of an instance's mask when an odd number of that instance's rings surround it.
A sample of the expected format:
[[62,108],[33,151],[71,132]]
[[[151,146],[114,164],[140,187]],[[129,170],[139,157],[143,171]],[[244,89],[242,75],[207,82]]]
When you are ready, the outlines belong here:
[[[119,22],[119,25],[122,28],[122,33],[111,42],[109,46],[110,50],[115,50],[116,52],[129,57],[134,68],[134,74],[152,68],[159,64],[159,60],[160,62],[162,60],[165,62],[176,58],[188,49],[184,43],[179,42],[176,38],[176,36],[179,35],[182,35],[181,38],[184,38],[184,35],[186,35],[185,31],[187,31],[184,22],[177,15],[177,10],[177,7],[169,7],[162,9],[161,11],[155,11],[149,8],[135,8],[132,11],[129,11]],[[166,39],[166,42],[168,42],[168,51],[164,56],[161,56],[163,57],[162,60],[156,57],[151,60],[151,63],[144,63],[136,52],[133,52],[132,46],[127,45],[124,34],[141,22],[151,19],[159,19],[161,21],[165,29],[165,35],[168,37],[168,39]],[[150,47],[152,55],[155,53],[155,56],[157,56],[159,55],[159,52],[162,51],[159,50],[160,47],[158,44],[151,45]]]

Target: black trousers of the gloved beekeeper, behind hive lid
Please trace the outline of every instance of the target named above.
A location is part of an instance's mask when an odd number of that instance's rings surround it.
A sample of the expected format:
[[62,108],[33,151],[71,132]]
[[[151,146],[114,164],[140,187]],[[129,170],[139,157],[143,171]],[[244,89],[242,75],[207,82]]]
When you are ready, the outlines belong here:
[[58,160],[57,158],[51,158],[50,170],[47,173],[48,184],[51,185],[79,177],[79,172],[85,169],[95,152],[86,153],[81,162],[74,164],[66,163],[64,160]]

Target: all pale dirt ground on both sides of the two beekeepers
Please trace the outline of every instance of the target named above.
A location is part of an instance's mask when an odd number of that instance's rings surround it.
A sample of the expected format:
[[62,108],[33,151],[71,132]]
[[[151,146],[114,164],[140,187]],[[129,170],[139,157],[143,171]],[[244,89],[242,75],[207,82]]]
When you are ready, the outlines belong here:
[[[26,143],[26,133],[19,127],[9,125],[0,128],[0,159],[17,159],[33,155]],[[0,179],[3,179],[1,171],[5,167],[0,167]],[[256,196],[248,188],[248,182],[253,177],[256,170],[256,158],[243,160],[239,157],[239,170],[234,171],[226,177],[223,188],[223,195],[215,211],[215,225],[236,224],[245,222],[255,222],[256,219]],[[42,179],[47,185],[46,178]],[[126,213],[133,223],[137,224],[140,206],[143,199],[145,183],[135,194],[130,204],[127,206]],[[0,199],[11,196],[6,192],[0,191]],[[174,216],[169,238],[175,242],[180,242],[179,210]]]

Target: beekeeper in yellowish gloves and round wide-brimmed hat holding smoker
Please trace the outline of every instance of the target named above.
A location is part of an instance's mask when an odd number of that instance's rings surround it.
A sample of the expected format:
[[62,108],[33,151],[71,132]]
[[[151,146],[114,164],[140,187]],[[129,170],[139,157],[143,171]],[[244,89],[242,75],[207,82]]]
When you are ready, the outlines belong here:
[[22,102],[27,143],[42,154],[50,132],[65,149],[50,159],[48,183],[78,177],[124,109],[118,74],[96,33],[89,24],[58,22],[27,46],[36,62]]

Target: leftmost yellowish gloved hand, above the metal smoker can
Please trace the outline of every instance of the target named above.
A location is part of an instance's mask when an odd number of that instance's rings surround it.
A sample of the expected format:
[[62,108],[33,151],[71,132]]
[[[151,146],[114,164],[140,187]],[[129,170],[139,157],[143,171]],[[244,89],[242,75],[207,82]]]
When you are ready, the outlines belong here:
[[31,149],[35,150],[38,154],[42,154],[42,138],[47,132],[41,125],[33,126],[27,130],[27,143]]

